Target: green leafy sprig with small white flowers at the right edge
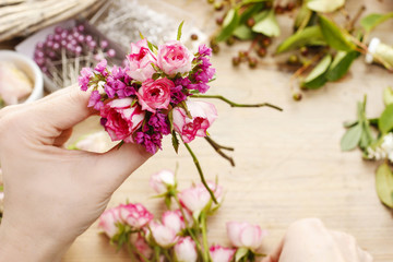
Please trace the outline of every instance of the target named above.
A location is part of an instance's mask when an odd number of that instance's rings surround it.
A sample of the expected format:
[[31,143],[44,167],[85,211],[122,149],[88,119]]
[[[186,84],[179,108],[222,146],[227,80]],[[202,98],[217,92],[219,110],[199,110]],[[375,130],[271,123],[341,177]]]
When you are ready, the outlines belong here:
[[[381,202],[393,209],[393,88],[384,90],[385,109],[379,118],[367,118],[366,97],[358,103],[358,119],[346,122],[348,130],[341,141],[343,151],[359,147],[365,159],[381,163],[377,169],[376,187]],[[373,131],[378,132],[376,136]]]

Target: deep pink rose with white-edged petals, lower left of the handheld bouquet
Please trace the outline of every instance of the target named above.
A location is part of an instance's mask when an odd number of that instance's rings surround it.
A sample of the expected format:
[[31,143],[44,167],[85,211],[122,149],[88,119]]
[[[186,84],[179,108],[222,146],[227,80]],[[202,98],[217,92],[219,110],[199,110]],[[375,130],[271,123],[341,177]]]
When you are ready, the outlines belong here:
[[100,109],[100,122],[112,141],[133,142],[132,133],[142,126],[145,112],[131,103],[131,98],[115,99]]

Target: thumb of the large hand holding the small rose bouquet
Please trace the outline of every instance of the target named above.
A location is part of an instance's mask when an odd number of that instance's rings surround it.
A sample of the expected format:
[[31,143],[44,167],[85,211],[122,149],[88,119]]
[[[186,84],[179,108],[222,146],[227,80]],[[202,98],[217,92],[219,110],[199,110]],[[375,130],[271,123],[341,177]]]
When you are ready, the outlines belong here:
[[139,144],[123,144],[120,148],[115,146],[105,154],[95,154],[92,158],[95,170],[92,174],[105,184],[108,184],[111,191],[115,191],[120,184],[152,154]]

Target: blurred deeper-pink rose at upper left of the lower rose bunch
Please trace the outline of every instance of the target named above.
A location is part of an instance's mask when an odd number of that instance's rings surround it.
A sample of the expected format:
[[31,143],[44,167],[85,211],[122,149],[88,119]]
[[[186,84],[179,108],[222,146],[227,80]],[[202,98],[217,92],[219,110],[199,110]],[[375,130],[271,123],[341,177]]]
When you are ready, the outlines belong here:
[[150,213],[142,204],[120,205],[120,217],[133,229],[141,229],[153,219]]

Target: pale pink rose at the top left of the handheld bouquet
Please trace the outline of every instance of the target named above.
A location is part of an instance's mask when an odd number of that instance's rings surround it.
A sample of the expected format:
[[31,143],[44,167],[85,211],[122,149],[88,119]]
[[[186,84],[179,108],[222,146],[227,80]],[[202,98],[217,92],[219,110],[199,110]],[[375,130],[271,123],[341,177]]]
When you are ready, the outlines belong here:
[[152,63],[156,64],[156,58],[148,49],[147,40],[142,39],[136,44],[131,43],[131,51],[127,56],[129,70],[128,75],[132,79],[144,82],[155,73]]

